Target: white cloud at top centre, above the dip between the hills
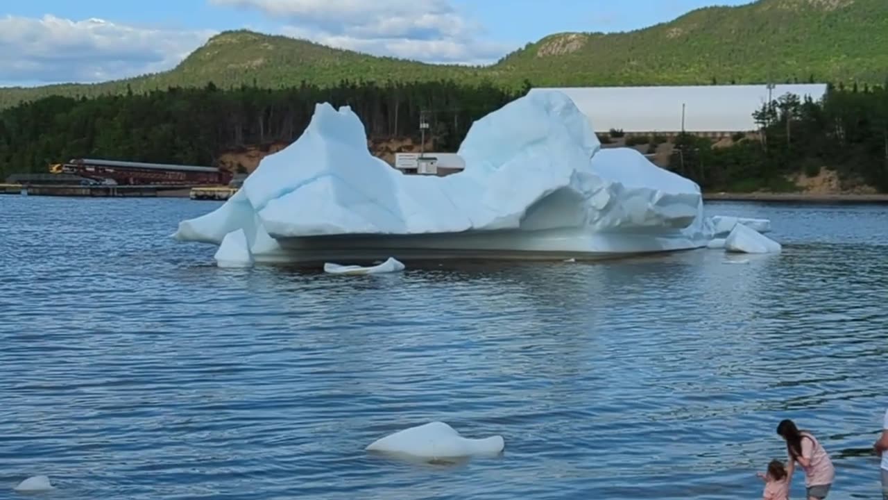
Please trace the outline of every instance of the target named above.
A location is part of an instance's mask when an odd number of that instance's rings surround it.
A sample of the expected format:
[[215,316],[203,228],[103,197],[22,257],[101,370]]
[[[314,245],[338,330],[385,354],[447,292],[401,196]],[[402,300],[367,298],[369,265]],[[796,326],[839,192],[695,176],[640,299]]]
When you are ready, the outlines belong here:
[[353,51],[437,63],[487,64],[514,49],[480,40],[483,28],[448,0],[209,0],[266,13],[281,32]]

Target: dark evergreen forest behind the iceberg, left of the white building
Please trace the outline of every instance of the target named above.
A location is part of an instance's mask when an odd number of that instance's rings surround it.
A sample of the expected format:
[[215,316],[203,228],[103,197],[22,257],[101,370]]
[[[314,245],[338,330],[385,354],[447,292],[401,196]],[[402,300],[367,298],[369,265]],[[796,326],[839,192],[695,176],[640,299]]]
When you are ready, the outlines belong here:
[[351,106],[370,141],[419,136],[421,115],[438,149],[456,149],[472,121],[519,96],[495,85],[452,81],[376,85],[343,81],[222,90],[46,97],[0,111],[0,174],[45,173],[52,163],[99,157],[216,165],[227,151],[295,141],[318,102]]

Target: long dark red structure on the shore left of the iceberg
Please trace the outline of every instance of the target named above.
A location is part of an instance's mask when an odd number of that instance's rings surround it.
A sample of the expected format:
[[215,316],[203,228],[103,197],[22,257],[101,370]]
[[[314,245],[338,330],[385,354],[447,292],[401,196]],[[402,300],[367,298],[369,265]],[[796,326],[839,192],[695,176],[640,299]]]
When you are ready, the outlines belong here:
[[73,173],[95,181],[110,180],[121,185],[136,184],[227,184],[232,173],[220,168],[193,165],[167,165],[116,160],[76,158],[50,165],[51,173]]

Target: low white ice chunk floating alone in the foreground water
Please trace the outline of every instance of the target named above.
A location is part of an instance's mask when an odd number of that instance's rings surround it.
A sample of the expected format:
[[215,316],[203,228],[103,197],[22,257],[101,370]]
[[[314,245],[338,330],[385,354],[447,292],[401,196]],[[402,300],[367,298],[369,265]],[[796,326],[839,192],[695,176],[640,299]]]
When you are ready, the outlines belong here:
[[447,460],[472,456],[497,456],[503,452],[502,436],[473,440],[464,438],[447,423],[432,422],[395,432],[371,443],[366,449],[424,460]]

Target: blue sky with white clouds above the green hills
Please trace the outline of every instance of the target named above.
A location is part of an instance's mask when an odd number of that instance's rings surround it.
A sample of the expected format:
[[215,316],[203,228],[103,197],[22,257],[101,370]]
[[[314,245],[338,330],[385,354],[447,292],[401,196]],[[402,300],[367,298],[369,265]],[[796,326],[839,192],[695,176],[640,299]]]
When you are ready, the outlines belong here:
[[0,85],[99,82],[173,68],[248,28],[433,63],[487,64],[563,31],[626,31],[749,0],[5,0]]

